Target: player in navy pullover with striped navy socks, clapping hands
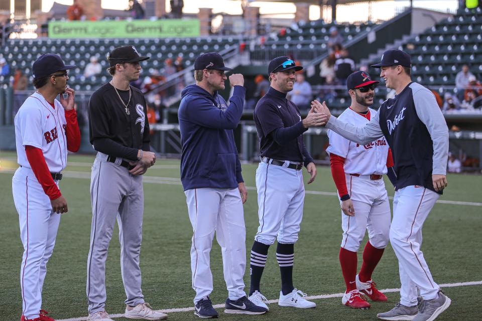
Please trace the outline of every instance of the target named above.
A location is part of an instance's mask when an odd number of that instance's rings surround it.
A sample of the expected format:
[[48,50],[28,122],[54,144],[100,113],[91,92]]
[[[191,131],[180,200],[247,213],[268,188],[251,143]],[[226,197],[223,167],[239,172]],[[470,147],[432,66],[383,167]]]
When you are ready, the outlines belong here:
[[320,115],[310,110],[301,119],[298,107],[286,99],[293,90],[295,72],[303,69],[288,57],[277,57],[268,66],[271,87],[254,111],[260,140],[261,163],[256,171],[258,215],[260,226],[251,249],[250,300],[267,307],[261,294],[260,281],[268,257],[268,249],[278,237],[276,257],[281,272],[279,305],[299,308],[315,307],[304,299],[304,294],[293,286],[294,244],[303,216],[303,165],[311,178],[316,177],[313,158],[306,150],[303,132],[321,124]]

